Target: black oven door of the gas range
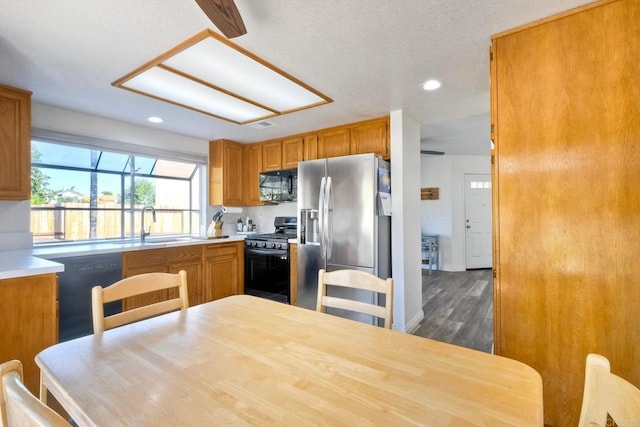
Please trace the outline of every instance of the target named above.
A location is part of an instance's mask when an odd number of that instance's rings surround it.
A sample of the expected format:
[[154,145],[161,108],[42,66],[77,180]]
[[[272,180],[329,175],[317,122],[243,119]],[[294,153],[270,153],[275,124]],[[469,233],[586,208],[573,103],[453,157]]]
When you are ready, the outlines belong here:
[[244,248],[244,292],[289,303],[289,251]]

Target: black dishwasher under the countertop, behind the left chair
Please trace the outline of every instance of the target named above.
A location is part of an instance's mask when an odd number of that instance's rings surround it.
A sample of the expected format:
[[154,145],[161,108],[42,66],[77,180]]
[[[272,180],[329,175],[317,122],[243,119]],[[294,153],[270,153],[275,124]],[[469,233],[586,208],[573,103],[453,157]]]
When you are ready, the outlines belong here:
[[[92,334],[91,288],[105,287],[122,279],[122,254],[52,258],[51,261],[64,264],[64,272],[58,273],[60,342]],[[104,306],[105,315],[120,311],[119,301]]]

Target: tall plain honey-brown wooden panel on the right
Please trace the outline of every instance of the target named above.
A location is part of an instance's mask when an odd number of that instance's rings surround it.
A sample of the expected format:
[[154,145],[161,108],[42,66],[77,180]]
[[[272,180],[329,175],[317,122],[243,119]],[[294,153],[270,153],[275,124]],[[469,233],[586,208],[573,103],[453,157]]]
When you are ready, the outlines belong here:
[[496,353],[575,426],[585,358],[640,386],[640,1],[494,36]]

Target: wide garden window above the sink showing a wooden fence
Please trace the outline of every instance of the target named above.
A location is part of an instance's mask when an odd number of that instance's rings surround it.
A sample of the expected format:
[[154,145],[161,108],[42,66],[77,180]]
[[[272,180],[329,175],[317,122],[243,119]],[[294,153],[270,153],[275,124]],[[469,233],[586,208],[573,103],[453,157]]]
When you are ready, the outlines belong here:
[[34,243],[133,240],[196,234],[202,165],[93,147],[31,141],[31,231]]

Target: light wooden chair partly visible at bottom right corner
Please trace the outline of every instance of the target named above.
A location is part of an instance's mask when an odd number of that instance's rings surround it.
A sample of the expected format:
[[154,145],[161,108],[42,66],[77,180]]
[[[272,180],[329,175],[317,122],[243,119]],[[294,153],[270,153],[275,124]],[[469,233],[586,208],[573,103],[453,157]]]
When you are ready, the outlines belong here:
[[611,373],[606,357],[587,356],[578,427],[624,426],[640,422],[640,390]]

